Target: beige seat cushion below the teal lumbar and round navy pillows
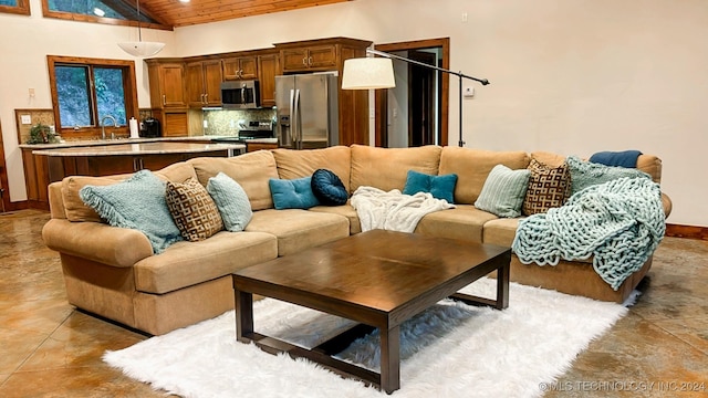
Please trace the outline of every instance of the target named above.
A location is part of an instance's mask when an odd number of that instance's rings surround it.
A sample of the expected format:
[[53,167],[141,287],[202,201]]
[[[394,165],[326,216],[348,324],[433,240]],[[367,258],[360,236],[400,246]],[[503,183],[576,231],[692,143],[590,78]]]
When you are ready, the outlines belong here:
[[348,237],[350,223],[345,217],[333,213],[268,209],[254,212],[246,231],[275,235],[278,255],[288,255]]

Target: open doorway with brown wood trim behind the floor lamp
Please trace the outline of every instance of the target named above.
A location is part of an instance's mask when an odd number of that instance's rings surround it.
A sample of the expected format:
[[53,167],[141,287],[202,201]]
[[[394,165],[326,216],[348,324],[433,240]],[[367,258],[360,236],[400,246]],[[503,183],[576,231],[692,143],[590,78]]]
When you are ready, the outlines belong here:
[[[377,44],[375,49],[449,69],[449,38]],[[375,93],[375,145],[447,145],[449,76],[395,60],[394,71],[396,87]]]

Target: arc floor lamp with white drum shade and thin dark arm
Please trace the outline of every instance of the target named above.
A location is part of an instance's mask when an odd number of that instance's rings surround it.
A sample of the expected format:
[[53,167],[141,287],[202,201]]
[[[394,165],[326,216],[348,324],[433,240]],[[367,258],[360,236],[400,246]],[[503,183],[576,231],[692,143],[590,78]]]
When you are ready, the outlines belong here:
[[489,84],[487,78],[477,78],[468,76],[462,72],[455,72],[439,67],[436,65],[429,65],[419,61],[410,60],[405,56],[391,54],[378,50],[366,50],[367,55],[378,55],[348,59],[344,61],[344,71],[342,73],[342,90],[375,90],[375,88],[392,88],[396,86],[394,80],[394,65],[392,60],[404,61],[407,63],[416,64],[423,67],[433,69],[439,72],[455,75],[459,78],[459,117],[460,117],[460,133],[459,143],[460,147],[465,146],[462,139],[462,80],[471,80],[481,83],[482,85]]

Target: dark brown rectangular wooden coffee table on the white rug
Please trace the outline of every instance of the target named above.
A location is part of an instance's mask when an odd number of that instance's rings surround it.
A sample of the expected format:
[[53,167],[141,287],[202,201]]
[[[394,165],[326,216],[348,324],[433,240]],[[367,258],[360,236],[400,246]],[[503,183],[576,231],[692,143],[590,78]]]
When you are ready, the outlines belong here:
[[[510,260],[511,250],[497,245],[383,230],[358,233],[235,273],[236,337],[271,354],[309,358],[391,394],[400,387],[400,324],[446,297],[506,308]],[[492,271],[497,271],[496,300],[457,293]],[[305,349],[253,331],[253,294],[362,325]],[[379,374],[332,357],[376,327]]]

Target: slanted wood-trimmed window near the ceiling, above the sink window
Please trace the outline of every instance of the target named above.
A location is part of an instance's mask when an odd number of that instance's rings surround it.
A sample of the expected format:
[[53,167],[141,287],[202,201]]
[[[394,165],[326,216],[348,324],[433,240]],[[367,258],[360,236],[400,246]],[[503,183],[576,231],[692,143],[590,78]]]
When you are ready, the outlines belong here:
[[[137,8],[136,3],[133,1],[42,0],[42,12],[44,17],[48,18],[107,24],[137,25]],[[143,9],[140,9],[140,24],[157,29],[171,29],[160,21],[152,18],[148,13],[145,13]]]

